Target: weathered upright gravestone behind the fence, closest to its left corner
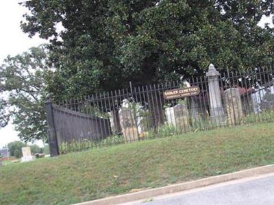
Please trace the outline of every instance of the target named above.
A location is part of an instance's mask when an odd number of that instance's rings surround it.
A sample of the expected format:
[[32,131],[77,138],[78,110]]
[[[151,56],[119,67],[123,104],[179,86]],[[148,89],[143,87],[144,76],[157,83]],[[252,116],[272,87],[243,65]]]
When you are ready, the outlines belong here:
[[132,142],[138,140],[138,130],[136,127],[136,120],[134,113],[130,108],[121,108],[119,110],[120,125],[123,132],[123,140],[125,142]]

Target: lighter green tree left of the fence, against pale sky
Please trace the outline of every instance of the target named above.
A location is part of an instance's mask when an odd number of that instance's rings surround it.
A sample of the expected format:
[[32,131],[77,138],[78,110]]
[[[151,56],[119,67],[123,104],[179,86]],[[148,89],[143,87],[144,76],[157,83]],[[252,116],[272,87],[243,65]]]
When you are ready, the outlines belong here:
[[44,101],[49,72],[43,46],[8,56],[0,66],[0,123],[3,127],[12,120],[23,141],[47,139]]

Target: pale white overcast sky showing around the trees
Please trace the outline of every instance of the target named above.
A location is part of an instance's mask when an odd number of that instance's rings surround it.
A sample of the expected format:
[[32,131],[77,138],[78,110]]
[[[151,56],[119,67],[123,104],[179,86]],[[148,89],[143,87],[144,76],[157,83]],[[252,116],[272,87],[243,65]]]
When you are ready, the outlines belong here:
[[[47,43],[46,40],[34,36],[29,38],[27,34],[23,33],[20,28],[20,21],[23,20],[23,14],[27,9],[18,5],[18,2],[23,0],[0,0],[0,64],[6,56],[15,56],[16,54],[27,51],[30,47],[36,47],[42,43]],[[264,16],[259,25],[263,26],[264,23],[270,23],[271,18]],[[0,147],[7,145],[12,141],[18,141],[17,132],[14,130],[12,124],[7,125],[5,128],[0,129]],[[42,142],[36,142],[42,145]]]

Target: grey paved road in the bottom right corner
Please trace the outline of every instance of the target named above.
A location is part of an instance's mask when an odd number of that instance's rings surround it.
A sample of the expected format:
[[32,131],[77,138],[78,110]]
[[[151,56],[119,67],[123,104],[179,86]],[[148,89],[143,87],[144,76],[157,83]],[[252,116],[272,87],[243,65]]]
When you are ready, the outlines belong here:
[[274,176],[229,184],[173,197],[154,199],[142,205],[273,205]]

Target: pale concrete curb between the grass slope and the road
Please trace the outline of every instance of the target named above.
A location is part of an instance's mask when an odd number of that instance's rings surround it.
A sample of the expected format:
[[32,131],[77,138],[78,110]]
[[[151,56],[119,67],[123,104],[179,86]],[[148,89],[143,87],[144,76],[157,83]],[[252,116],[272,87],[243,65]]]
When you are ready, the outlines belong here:
[[179,191],[186,191],[190,189],[199,188],[202,186],[208,186],[212,184],[219,184],[221,182],[227,182],[231,180],[238,180],[242,178],[248,178],[252,176],[258,176],[265,173],[274,172],[274,165],[266,165],[263,167],[256,167],[253,169],[245,169],[242,171],[236,171],[234,173],[227,173],[220,176],[212,176],[201,180],[195,180],[192,182],[184,182],[180,184],[173,184],[170,186],[164,186],[155,189],[148,189],[144,191],[138,191],[136,193],[128,193],[125,195],[117,195],[114,197],[107,197],[100,200],[94,200],[90,202],[83,202],[75,205],[110,205],[110,204],[122,204],[126,202],[133,202],[136,200],[147,199],[158,195],[164,195],[169,193],[175,193]]

